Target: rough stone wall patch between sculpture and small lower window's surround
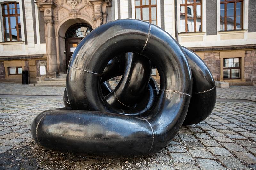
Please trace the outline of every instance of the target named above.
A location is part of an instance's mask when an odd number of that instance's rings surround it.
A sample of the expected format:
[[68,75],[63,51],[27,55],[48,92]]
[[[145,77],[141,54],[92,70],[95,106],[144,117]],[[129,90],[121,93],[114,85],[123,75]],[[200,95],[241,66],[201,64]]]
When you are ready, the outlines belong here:
[[204,53],[204,62],[212,72],[215,81],[220,81],[220,52]]

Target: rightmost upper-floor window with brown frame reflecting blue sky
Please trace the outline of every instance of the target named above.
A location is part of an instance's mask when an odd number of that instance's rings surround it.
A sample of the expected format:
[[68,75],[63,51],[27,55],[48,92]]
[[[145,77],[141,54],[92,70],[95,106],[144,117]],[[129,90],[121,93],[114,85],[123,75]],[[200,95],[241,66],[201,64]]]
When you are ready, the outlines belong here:
[[220,1],[220,31],[243,29],[243,0]]

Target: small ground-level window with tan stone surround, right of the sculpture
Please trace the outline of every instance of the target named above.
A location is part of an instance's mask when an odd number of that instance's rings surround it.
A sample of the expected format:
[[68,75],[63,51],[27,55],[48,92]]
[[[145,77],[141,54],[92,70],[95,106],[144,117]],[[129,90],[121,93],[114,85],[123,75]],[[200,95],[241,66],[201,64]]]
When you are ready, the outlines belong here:
[[240,58],[223,59],[223,79],[240,79]]

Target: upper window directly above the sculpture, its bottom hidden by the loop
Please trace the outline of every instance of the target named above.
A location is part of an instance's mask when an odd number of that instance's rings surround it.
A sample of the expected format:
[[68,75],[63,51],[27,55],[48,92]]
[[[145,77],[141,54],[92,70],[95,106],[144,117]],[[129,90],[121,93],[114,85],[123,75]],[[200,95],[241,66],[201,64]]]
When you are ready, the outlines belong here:
[[135,0],[135,18],[157,25],[156,0]]

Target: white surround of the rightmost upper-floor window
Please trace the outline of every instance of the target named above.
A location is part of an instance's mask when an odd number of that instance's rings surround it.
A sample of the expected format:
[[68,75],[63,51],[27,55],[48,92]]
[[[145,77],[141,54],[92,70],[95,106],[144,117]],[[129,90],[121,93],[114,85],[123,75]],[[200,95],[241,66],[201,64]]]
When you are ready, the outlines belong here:
[[[243,30],[248,30],[248,6],[249,0],[243,1]],[[220,0],[217,0],[217,32],[220,31]],[[231,30],[241,31],[241,30]]]

